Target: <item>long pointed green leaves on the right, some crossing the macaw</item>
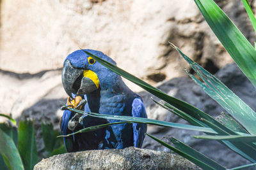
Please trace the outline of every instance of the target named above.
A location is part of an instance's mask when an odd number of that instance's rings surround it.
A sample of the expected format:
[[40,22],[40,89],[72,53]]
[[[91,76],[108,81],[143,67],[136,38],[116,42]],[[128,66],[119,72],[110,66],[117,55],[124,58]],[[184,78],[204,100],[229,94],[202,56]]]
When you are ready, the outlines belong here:
[[[202,15],[204,15],[205,20],[211,27],[214,34],[216,34],[217,38],[220,39],[227,52],[235,60],[243,73],[256,87],[256,51],[253,46],[243,36],[239,29],[237,29],[236,25],[234,25],[232,21],[227,17],[227,15],[225,15],[225,13],[218,7],[218,5],[214,3],[214,1],[195,0],[195,3],[197,4]],[[253,27],[255,27],[256,19],[252,13],[252,9],[248,5],[248,1],[243,0],[243,3],[246,11],[248,12],[250,20],[252,21]],[[217,132],[217,134],[209,134],[209,132],[204,131],[207,136],[195,136],[195,138],[214,139],[216,141],[219,141],[231,150],[234,150],[234,152],[237,152],[245,159],[255,163],[255,111],[253,111],[247,104],[239,99],[239,97],[237,97],[231,90],[229,90],[223,83],[221,83],[220,80],[215,78],[204,68],[200,67],[193,60],[189,59],[189,57],[182,53],[179,48],[174,45],[173,47],[180,53],[180,55],[182,55],[182,57],[188,62],[188,64],[190,64],[190,66],[194,69],[195,73],[197,73],[198,76],[202,78],[203,82],[198,80],[192,74],[189,74],[189,76],[200,87],[202,87],[202,89],[204,89],[205,93],[207,93],[209,96],[212,97],[212,99],[217,101],[223,108],[225,108],[225,110],[227,110],[229,115],[231,115],[235,119],[230,117],[226,113],[222,113],[221,117],[219,118],[220,122],[218,122],[203,111],[198,110],[197,108],[189,105],[188,103],[184,103],[179,99],[175,99],[174,97],[164,94],[155,87],[152,87],[151,85],[148,85],[148,83],[145,83],[145,81],[142,81],[139,78],[133,76],[132,74],[129,74],[126,71],[116,67],[115,65],[100,59],[92,53],[86,51],[84,51],[84,53],[92,56],[93,59],[95,59],[103,66],[108,67],[108,69],[110,69],[111,71],[120,74],[124,78],[127,78],[133,83],[136,83],[151,94],[154,94],[154,96],[162,99],[163,101],[159,103],[156,101],[155,102],[166,110],[169,110],[175,115],[184,118],[184,120],[187,120],[190,124],[194,125],[194,129],[196,129],[195,127],[204,127],[211,129],[211,131]],[[97,114],[90,114],[90,116],[102,117],[102,115]],[[111,117],[103,116],[102,118]],[[116,117],[112,118],[117,119]],[[118,120],[123,121],[148,123],[147,120],[139,120],[137,118],[133,118],[132,120],[128,117],[118,118]],[[203,169],[225,169],[225,167],[205,157],[201,153],[196,152],[195,150],[187,145],[184,145],[177,139],[171,138],[174,146],[170,146],[163,141],[154,138],[150,134],[148,134],[148,136],[155,139],[156,141],[159,141],[159,143],[179,153],[183,157],[186,157],[186,159],[191,160],[191,162],[194,162],[196,165],[202,167]],[[253,165],[255,164],[235,167],[233,169],[241,169],[243,167],[249,167]]]

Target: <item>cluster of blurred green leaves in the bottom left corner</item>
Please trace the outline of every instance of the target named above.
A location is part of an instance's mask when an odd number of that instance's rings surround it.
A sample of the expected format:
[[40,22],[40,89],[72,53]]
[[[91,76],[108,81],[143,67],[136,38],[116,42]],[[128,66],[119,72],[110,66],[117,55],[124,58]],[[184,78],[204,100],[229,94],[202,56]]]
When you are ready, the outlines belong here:
[[[52,124],[42,124],[42,131],[48,156],[66,152],[62,139],[56,138],[60,132]],[[11,122],[0,124],[0,153],[1,169],[33,169],[38,162],[34,122],[20,121],[19,128]]]

